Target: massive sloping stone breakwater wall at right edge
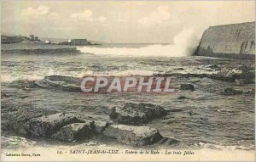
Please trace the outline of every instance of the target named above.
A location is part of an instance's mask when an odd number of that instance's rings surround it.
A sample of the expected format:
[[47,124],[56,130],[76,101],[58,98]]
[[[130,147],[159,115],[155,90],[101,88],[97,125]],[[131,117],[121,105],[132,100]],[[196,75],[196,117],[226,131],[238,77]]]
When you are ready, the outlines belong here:
[[210,26],[195,55],[254,59],[255,22]]

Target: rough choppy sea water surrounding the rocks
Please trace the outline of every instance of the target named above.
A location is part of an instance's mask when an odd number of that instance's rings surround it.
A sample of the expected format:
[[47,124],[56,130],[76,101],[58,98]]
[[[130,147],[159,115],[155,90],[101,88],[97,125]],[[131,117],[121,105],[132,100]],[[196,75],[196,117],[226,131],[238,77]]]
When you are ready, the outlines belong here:
[[[22,81],[36,81],[47,75],[156,75],[212,74],[209,65],[240,66],[251,60],[218,59],[189,56],[190,48],[172,44],[104,44],[95,47],[11,44],[1,51],[2,121],[6,114],[29,109],[34,112],[84,113],[96,119],[109,120],[108,109],[125,103],[154,103],[168,110],[162,119],[146,126],[157,128],[164,137],[179,142],[172,148],[210,148],[254,150],[254,96],[224,96],[226,87],[250,91],[253,84],[235,83],[209,78],[177,77],[178,84],[191,83],[195,91],[168,94],[132,93],[90,94],[39,87],[24,88]],[[178,99],[185,96],[187,99]],[[3,132],[3,148],[58,147],[63,142],[31,139]],[[17,142],[19,144],[17,144]],[[20,144],[21,143],[21,144]],[[92,139],[82,144],[120,145]],[[80,143],[81,144],[81,143]]]

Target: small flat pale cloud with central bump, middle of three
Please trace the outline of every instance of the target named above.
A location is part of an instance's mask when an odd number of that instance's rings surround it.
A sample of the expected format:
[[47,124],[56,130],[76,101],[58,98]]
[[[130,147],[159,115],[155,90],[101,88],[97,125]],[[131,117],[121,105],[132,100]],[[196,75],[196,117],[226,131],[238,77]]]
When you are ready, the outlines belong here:
[[70,18],[73,20],[78,20],[78,21],[95,21],[95,22],[104,22],[107,20],[106,17],[100,16],[100,17],[93,17],[92,16],[92,11],[89,9],[84,10],[82,13],[75,13],[71,14]]

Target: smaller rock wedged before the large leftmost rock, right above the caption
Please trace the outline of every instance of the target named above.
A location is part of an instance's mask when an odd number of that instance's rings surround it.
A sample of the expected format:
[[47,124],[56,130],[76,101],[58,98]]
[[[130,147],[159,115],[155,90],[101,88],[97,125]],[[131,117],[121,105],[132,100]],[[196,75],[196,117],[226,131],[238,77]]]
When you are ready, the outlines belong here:
[[93,120],[85,123],[73,123],[61,127],[52,137],[61,141],[73,142],[81,138],[89,138],[95,134],[95,126]]

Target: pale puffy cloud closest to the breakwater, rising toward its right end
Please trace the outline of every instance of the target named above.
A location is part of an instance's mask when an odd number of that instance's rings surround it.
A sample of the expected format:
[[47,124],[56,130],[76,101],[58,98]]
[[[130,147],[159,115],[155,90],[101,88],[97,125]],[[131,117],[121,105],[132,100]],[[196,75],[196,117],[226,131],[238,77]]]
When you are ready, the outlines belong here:
[[168,6],[159,6],[151,12],[148,17],[144,17],[137,22],[141,25],[153,25],[164,23],[171,18],[170,8]]

